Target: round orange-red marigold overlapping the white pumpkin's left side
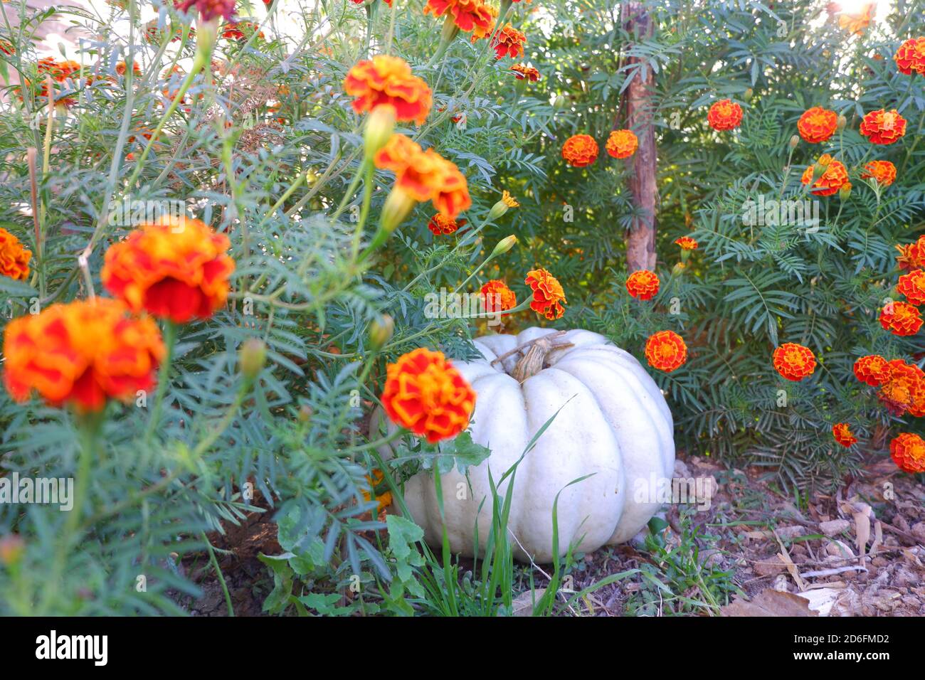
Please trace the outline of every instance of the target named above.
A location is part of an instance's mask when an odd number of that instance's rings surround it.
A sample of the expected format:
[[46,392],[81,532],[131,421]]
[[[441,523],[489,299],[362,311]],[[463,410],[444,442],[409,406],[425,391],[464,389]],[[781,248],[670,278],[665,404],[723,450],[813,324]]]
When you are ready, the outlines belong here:
[[475,391],[443,352],[421,347],[388,365],[382,405],[396,425],[434,443],[469,427]]

